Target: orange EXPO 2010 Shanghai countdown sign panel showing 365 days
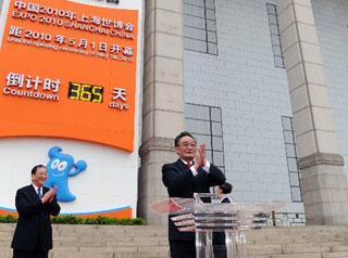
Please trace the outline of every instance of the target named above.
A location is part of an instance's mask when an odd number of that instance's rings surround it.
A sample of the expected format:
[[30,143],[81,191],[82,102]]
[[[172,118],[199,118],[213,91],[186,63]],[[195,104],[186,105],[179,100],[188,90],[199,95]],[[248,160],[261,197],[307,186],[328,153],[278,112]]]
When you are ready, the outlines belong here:
[[10,0],[2,15],[0,138],[133,152],[138,10]]

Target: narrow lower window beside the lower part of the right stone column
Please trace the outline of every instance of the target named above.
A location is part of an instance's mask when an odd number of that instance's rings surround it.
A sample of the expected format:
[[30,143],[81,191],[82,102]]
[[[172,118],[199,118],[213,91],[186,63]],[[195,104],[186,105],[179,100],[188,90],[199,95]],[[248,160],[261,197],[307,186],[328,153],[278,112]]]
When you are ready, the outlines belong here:
[[287,168],[289,173],[289,183],[291,190],[293,202],[302,202],[301,189],[300,189],[300,170],[297,166],[297,150],[295,142],[295,130],[293,118],[288,116],[282,117],[283,133],[285,141],[285,152],[287,159]]

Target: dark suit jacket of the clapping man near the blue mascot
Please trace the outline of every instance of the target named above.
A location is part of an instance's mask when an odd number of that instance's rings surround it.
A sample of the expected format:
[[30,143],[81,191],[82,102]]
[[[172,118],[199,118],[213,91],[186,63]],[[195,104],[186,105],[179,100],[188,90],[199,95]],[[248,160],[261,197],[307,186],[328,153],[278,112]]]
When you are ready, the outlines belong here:
[[[48,188],[42,188],[47,193]],[[50,215],[57,216],[61,207],[57,198],[50,204],[42,204],[34,186],[27,185],[15,195],[15,207],[18,212],[18,221],[14,231],[11,247],[24,251],[33,251],[39,245],[44,250],[52,248],[52,227]]]

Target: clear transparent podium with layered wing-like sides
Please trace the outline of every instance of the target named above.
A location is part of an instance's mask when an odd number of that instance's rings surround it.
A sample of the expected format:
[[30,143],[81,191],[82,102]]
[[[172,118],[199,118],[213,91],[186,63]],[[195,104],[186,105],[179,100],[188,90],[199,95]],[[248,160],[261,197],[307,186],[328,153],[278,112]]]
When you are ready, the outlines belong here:
[[196,232],[197,258],[247,258],[245,231],[266,224],[271,210],[283,205],[282,202],[243,204],[233,202],[229,195],[195,193],[194,198],[170,198],[152,204],[151,208],[158,214],[170,214],[179,231]]

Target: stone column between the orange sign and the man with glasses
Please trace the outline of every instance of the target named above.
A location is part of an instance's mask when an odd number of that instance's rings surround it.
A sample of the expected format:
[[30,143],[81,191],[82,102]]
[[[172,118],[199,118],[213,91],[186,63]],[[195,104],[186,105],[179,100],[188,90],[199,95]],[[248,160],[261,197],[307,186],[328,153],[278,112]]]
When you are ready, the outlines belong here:
[[184,130],[182,1],[145,1],[142,139],[138,216],[165,224],[148,205],[167,198],[162,165],[175,160],[174,138]]

